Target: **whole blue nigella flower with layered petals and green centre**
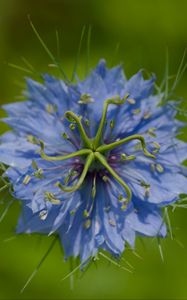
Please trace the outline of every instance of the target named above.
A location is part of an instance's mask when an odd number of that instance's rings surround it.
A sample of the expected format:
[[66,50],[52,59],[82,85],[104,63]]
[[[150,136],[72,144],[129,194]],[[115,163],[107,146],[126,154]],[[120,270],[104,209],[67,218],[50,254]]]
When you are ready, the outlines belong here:
[[154,76],[127,80],[104,60],[76,84],[43,80],[27,79],[27,100],[3,106],[17,233],[58,234],[65,257],[82,262],[99,249],[119,257],[136,235],[165,237],[162,208],[187,193],[176,103],[161,105]]

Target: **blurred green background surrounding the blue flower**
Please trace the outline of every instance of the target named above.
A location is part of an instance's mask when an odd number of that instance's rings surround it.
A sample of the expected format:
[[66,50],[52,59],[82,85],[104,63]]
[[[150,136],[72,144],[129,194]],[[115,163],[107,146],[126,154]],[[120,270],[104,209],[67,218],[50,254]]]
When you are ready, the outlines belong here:
[[[92,26],[90,67],[101,57],[108,65],[123,62],[127,76],[140,68],[157,74],[161,82],[168,48],[170,74],[176,74],[187,46],[187,1],[184,0],[0,0],[0,103],[17,101],[24,78],[34,76],[11,68],[27,68],[26,58],[37,72],[55,72],[29,25],[28,15],[56,55],[55,31],[60,37],[60,58],[71,75],[84,25]],[[87,27],[88,28],[88,27]],[[86,41],[83,41],[78,73],[86,68]],[[176,93],[187,98],[187,74]],[[184,106],[186,106],[184,102]],[[1,111],[1,116],[3,113]],[[0,124],[0,133],[7,128]],[[186,132],[187,133],[187,132]],[[185,138],[185,134],[183,135]],[[4,202],[10,199],[1,194]],[[0,205],[2,214],[5,204]],[[136,252],[124,258],[133,274],[100,257],[84,274],[76,273],[74,286],[61,279],[70,271],[57,243],[20,294],[51,243],[38,235],[14,238],[19,203],[10,207],[0,223],[0,299],[186,299],[187,298],[187,210],[171,215],[174,238],[161,241],[164,262],[156,240],[137,241]],[[1,215],[0,215],[1,220]],[[125,266],[125,261],[121,262]]]

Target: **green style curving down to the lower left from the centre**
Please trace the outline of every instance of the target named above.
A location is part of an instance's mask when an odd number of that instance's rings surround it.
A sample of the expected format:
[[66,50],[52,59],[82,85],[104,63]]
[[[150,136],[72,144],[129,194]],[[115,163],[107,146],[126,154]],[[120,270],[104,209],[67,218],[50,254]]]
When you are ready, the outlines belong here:
[[94,153],[90,153],[86,159],[85,165],[84,165],[84,169],[82,171],[82,174],[77,182],[77,184],[69,187],[69,186],[64,186],[62,185],[60,182],[56,183],[56,186],[59,187],[63,192],[75,192],[76,190],[78,190],[80,188],[80,186],[83,184],[84,179],[86,177],[86,174],[89,170],[90,165],[92,164],[94,160]]

